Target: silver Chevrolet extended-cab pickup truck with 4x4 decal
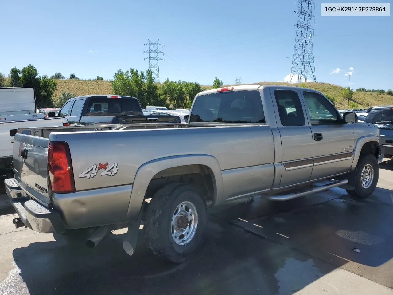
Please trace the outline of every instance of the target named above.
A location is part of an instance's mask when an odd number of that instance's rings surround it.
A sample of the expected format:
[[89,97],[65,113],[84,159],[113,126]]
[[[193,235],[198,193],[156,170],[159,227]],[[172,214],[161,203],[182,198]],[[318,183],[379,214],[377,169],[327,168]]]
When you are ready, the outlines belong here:
[[148,247],[180,263],[202,243],[208,207],[337,186],[368,197],[384,157],[379,132],[316,90],[224,87],[197,94],[186,124],[20,129],[5,184],[16,227],[86,230],[88,247],[127,227],[132,255],[143,225]]

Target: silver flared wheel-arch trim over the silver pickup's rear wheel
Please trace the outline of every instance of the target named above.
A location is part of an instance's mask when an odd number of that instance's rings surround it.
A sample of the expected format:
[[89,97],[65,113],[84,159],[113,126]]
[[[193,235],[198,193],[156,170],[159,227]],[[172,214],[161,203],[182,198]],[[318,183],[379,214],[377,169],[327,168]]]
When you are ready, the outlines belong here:
[[224,186],[222,181],[222,173],[219,162],[215,157],[204,154],[191,154],[155,159],[141,165],[138,171],[136,171],[127,212],[127,220],[133,221],[138,218],[143,200],[145,199],[147,187],[149,186],[149,183],[154,175],[165,169],[185,165],[204,165],[209,167],[213,172],[213,182],[215,182],[213,202],[222,198]]

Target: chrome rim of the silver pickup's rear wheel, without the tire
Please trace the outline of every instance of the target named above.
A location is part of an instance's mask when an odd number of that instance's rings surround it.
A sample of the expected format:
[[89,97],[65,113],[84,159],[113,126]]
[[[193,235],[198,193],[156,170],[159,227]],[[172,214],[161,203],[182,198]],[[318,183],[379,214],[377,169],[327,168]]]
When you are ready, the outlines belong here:
[[198,212],[195,205],[189,201],[180,203],[172,214],[171,233],[174,242],[186,245],[195,236],[198,226]]

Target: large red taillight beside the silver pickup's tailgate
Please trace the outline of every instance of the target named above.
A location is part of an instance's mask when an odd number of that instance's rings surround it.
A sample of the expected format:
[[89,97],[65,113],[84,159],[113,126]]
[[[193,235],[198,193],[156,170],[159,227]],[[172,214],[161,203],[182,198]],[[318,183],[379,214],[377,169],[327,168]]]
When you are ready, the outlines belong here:
[[75,192],[70,147],[66,142],[49,142],[48,172],[53,192]]

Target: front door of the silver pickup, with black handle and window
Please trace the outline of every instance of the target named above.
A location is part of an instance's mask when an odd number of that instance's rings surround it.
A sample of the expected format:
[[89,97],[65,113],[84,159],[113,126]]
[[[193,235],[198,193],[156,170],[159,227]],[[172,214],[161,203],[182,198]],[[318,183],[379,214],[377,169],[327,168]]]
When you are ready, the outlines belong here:
[[312,131],[313,161],[311,179],[319,179],[349,170],[353,162],[352,124],[342,124],[334,105],[316,92],[302,91]]

